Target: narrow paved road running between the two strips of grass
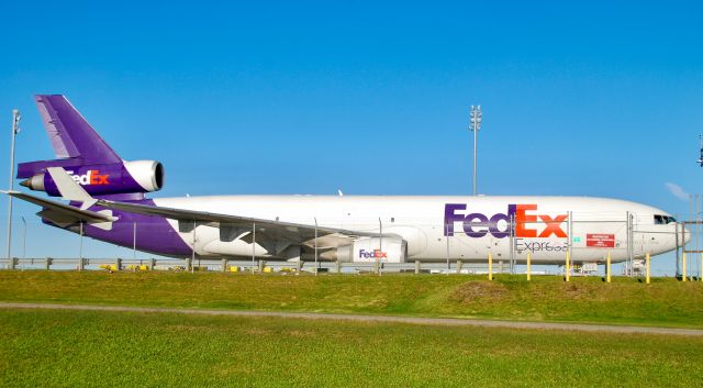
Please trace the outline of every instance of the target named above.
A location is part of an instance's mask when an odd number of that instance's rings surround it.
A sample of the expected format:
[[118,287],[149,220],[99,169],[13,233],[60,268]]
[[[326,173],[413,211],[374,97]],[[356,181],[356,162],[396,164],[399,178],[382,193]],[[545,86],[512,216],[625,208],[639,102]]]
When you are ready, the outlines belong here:
[[581,332],[605,332],[625,334],[666,334],[666,335],[692,335],[703,336],[703,330],[696,329],[670,329],[652,326],[618,326],[606,324],[580,324],[580,323],[548,323],[548,322],[521,322],[521,321],[491,321],[453,318],[414,318],[392,315],[356,315],[356,314],[325,314],[314,312],[278,312],[278,311],[242,311],[242,310],[202,310],[202,309],[171,309],[156,307],[121,307],[121,306],[88,306],[88,304],[53,304],[53,303],[3,303],[0,309],[48,309],[48,310],[80,310],[80,311],[116,311],[116,312],[147,312],[147,313],[179,313],[202,315],[231,315],[231,317],[274,317],[287,319],[314,319],[314,320],[341,320],[356,322],[389,322],[427,324],[444,326],[480,326],[480,328],[506,328],[506,329],[533,329],[533,330],[565,330]]

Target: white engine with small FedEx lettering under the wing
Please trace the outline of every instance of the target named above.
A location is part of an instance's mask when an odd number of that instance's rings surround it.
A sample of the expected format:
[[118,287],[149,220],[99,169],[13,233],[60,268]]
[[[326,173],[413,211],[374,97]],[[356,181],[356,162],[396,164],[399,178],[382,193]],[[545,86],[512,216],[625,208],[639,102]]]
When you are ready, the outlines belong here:
[[405,263],[408,243],[400,237],[362,237],[352,245],[323,253],[322,258],[343,263]]

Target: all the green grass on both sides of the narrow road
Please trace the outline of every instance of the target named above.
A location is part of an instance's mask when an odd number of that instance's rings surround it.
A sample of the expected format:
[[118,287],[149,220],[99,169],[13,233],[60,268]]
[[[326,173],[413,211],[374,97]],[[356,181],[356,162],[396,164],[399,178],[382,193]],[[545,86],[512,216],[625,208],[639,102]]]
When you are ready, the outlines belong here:
[[[655,279],[0,271],[0,301],[703,328]],[[1,387],[703,386],[703,337],[0,309]]]

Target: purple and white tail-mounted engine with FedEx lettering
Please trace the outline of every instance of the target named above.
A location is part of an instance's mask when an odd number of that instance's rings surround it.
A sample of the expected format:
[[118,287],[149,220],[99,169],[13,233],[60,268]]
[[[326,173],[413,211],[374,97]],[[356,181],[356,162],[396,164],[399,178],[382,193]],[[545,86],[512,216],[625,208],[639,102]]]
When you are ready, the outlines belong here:
[[[164,187],[164,166],[155,160],[134,160],[121,164],[80,165],[64,167],[74,180],[90,195],[152,192]],[[60,197],[60,192],[46,173],[37,173],[20,185],[32,190],[46,191]]]

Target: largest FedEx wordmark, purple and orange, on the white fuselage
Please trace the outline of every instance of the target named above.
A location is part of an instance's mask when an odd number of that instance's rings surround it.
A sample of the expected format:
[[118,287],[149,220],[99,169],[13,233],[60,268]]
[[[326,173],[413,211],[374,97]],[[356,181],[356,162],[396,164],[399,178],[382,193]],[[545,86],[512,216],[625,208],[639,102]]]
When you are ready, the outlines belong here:
[[[461,223],[464,233],[469,237],[480,239],[491,234],[495,239],[503,239],[510,235],[510,221],[515,220],[515,237],[540,237],[556,236],[566,239],[567,234],[561,229],[561,224],[567,220],[568,214],[547,215],[537,213],[537,204],[509,204],[507,212],[496,213],[490,218],[483,213],[467,212],[466,203],[446,203],[444,207],[444,235],[453,236],[457,222]],[[499,228],[499,222],[504,221],[504,225]]]

